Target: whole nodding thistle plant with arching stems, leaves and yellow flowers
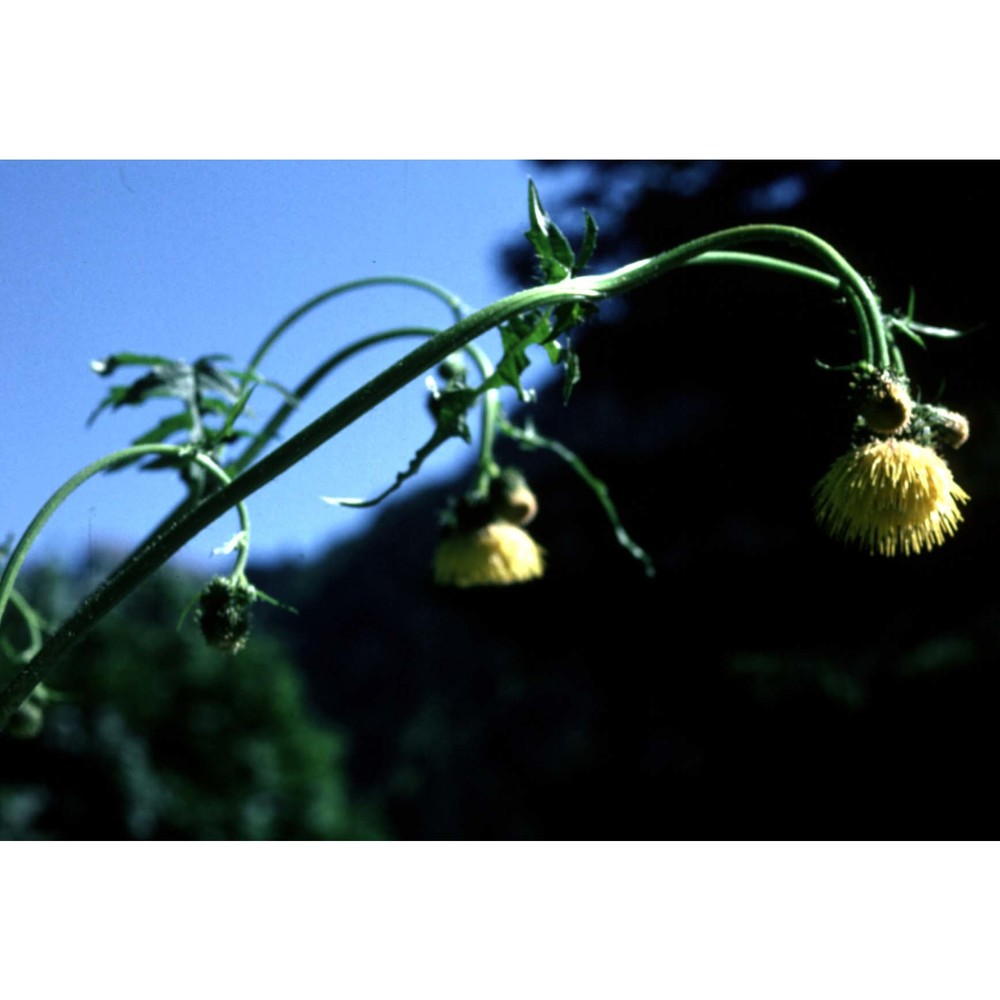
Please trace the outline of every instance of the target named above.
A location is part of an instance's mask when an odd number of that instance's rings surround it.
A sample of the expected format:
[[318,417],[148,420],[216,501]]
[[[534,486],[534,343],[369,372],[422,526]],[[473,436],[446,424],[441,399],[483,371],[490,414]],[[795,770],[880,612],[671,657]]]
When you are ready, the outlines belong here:
[[[225,367],[219,355],[188,365],[160,355],[123,353],[93,362],[104,378],[138,368],[131,382],[114,385],[91,414],[142,406],[151,398],[176,401],[178,412],[160,420],[128,447],[98,459],[64,483],[42,506],[6,559],[0,576],[0,616],[8,605],[27,626],[27,643],[3,646],[0,663],[0,726],[30,734],[37,731],[49,697],[44,682],[56,661],[131,590],[163,565],[196,534],[229,510],[239,531],[223,546],[236,553],[228,576],[209,581],[200,597],[197,619],[206,638],[233,654],[247,642],[249,612],[257,600],[273,600],[247,577],[250,521],[246,501],[271,480],[379,406],[393,393],[425,378],[427,405],[434,419],[428,440],[377,496],[323,497],[344,507],[380,503],[415,476],[441,444],[460,438],[476,444],[477,457],[468,492],[443,512],[440,546],[429,571],[444,586],[527,584],[541,577],[546,556],[528,534],[544,497],[536,497],[523,476],[499,459],[504,442],[541,450],[565,462],[588,488],[608,517],[623,550],[647,575],[654,572],[645,550],[626,531],[610,491],[584,460],[563,444],[540,434],[530,417],[512,418],[504,400],[530,410],[533,394],[522,377],[537,359],[558,367],[567,403],[580,381],[581,359],[573,338],[608,298],[627,293],[688,267],[742,267],[809,282],[845,306],[844,332],[860,345],[857,360],[840,369],[854,410],[849,450],[837,459],[815,493],[819,524],[842,541],[878,556],[911,555],[941,545],[961,521],[968,500],[954,481],[941,452],[960,446],[968,436],[963,417],[922,403],[910,386],[903,363],[907,342],[956,336],[905,315],[887,314],[871,285],[828,243],[802,229],[783,225],[747,225],[691,240],[655,257],[604,274],[586,274],[597,242],[597,225],[584,213],[580,246],[571,246],[545,211],[534,184],[528,189],[527,233],[537,261],[539,282],[491,305],[471,310],[453,293],[423,279],[380,276],[330,288],[288,314],[262,340],[242,367]],[[768,253],[762,252],[764,248]],[[796,259],[791,259],[792,257]],[[801,262],[801,257],[811,264]],[[444,329],[406,327],[366,332],[341,345],[301,382],[287,389],[265,378],[267,354],[305,315],[348,292],[377,291],[386,285],[411,288],[440,300],[450,312]],[[664,285],[664,294],[669,283]],[[498,330],[500,356],[491,360],[477,340]],[[284,443],[274,446],[298,403],[339,365],[357,353],[387,341],[419,341],[408,353],[360,386]],[[277,392],[280,403],[263,428],[247,426],[253,396]],[[847,435],[845,434],[845,437]],[[477,441],[478,437],[478,441]],[[149,536],[57,628],[45,637],[40,618],[15,589],[28,552],[52,513],[91,477],[132,470],[173,473],[185,484],[184,501],[152,527]],[[804,497],[803,502],[808,502]],[[623,568],[624,571],[624,568]]]

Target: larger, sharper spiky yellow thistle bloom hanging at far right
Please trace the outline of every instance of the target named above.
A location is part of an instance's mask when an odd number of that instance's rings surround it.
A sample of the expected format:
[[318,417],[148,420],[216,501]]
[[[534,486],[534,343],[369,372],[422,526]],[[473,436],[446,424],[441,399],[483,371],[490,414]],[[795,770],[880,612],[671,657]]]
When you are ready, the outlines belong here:
[[816,487],[816,517],[831,535],[883,556],[942,545],[969,495],[931,448],[898,438],[842,455]]

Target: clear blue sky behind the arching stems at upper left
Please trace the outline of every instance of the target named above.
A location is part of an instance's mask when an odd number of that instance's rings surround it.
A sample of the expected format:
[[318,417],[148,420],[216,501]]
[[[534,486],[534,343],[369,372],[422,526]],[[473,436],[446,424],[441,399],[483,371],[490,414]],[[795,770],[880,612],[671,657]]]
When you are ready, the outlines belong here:
[[[375,274],[426,278],[472,307],[486,305],[515,290],[499,251],[526,228],[529,174],[519,161],[0,163],[0,537],[19,536],[76,470],[176,408],[155,401],[149,412],[105,411],[88,428],[109,384],[90,371],[92,359],[128,350],[187,361],[218,352],[243,362],[306,299]],[[545,197],[552,185],[541,190]],[[448,321],[441,303],[416,290],[354,292],[295,326],[263,374],[294,385],[360,335]],[[405,349],[345,365],[289,432]],[[418,381],[251,497],[253,557],[312,555],[369,524],[370,513],[319,497],[370,496],[391,483],[430,433],[424,396]],[[278,402],[259,391],[257,419]],[[449,442],[421,476],[451,474],[471,457]],[[59,510],[36,552],[130,546],[182,495],[169,472],[98,477]],[[184,558],[201,562],[235,530],[235,515],[216,522]]]

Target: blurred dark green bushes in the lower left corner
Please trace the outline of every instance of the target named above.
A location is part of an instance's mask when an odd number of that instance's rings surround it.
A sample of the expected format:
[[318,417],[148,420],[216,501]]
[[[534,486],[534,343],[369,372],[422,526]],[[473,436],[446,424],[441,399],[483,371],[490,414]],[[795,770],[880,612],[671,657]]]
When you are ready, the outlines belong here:
[[[25,592],[58,620],[81,585],[47,566]],[[263,634],[237,656],[210,650],[193,616],[178,630],[200,586],[162,571],[70,654],[41,734],[0,738],[0,837],[381,835],[349,795],[344,738],[310,716],[286,651]]]

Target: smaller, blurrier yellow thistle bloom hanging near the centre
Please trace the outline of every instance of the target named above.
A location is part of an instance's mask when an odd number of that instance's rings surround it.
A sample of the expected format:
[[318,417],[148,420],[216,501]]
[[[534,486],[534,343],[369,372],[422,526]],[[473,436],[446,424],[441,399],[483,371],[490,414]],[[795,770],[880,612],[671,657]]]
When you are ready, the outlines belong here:
[[434,555],[434,582],[450,587],[521,583],[544,570],[544,553],[531,535],[499,521],[449,535]]

